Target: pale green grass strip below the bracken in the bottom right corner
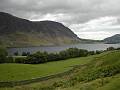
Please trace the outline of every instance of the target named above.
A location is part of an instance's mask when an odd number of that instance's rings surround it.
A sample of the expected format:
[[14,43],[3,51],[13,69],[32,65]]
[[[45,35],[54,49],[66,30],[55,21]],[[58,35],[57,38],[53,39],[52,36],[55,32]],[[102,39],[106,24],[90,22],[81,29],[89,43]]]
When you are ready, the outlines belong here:
[[78,83],[73,87],[61,88],[59,90],[120,90],[120,74],[103,78],[103,85],[101,79],[96,79],[90,82]]

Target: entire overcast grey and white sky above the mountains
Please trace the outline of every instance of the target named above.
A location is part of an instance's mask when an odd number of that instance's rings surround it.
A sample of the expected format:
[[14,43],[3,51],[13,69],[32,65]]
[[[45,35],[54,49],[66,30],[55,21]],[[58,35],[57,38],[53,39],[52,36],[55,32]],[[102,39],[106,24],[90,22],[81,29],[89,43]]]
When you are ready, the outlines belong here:
[[119,4],[120,0],[0,0],[0,12],[61,22],[80,38],[102,40],[120,34]]

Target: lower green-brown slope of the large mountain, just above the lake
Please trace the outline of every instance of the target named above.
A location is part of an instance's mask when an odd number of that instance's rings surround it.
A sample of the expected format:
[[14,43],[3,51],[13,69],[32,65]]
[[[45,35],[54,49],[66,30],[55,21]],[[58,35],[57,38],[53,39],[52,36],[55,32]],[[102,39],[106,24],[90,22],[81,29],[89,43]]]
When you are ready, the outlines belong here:
[[0,36],[0,44],[7,45],[6,47],[49,46],[74,43],[78,43],[78,41],[68,37],[44,37],[43,33],[37,32],[15,32],[7,36]]

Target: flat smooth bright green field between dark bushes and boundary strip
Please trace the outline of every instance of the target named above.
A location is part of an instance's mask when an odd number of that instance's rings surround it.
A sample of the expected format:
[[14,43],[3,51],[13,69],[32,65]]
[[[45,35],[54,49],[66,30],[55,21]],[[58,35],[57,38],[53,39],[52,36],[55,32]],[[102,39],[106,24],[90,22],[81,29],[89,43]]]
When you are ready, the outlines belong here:
[[69,70],[74,65],[85,64],[94,56],[74,58],[45,64],[0,64],[0,81],[17,81],[43,77]]

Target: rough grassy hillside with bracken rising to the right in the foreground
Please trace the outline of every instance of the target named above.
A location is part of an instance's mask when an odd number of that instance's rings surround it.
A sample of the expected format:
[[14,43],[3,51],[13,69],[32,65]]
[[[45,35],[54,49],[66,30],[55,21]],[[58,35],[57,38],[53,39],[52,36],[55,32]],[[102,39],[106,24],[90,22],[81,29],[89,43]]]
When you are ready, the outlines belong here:
[[[119,90],[120,51],[104,52],[100,55],[71,60],[76,60],[74,65],[77,67],[69,75],[7,88],[7,90]],[[85,62],[80,64],[79,60]]]

